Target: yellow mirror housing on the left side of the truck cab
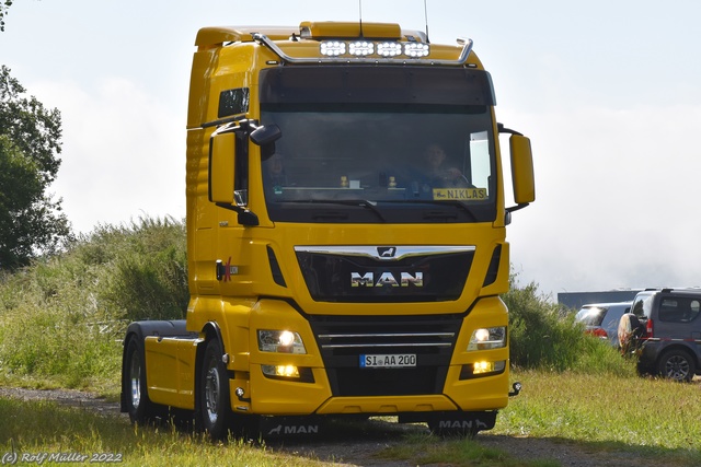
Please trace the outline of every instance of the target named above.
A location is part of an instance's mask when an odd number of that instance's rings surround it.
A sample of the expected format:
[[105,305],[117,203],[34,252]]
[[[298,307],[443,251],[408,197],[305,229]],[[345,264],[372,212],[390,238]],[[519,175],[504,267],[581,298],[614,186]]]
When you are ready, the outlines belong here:
[[209,201],[233,205],[235,135],[214,133],[209,139]]

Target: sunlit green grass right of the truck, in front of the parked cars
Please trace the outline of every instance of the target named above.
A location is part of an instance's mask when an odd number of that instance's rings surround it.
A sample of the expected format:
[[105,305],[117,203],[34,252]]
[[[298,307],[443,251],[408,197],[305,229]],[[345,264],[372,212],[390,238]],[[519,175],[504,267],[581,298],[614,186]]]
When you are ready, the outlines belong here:
[[699,384],[634,374],[527,371],[494,434],[644,452],[666,465],[701,465]]

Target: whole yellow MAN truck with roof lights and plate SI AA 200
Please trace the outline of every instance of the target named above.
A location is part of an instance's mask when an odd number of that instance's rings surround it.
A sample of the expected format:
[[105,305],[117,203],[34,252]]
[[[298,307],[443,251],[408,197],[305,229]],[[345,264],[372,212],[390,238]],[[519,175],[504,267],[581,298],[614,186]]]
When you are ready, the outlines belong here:
[[302,22],[195,45],[191,301],[129,325],[122,410],[187,413],[212,437],[327,416],[492,429],[510,390],[505,227],[535,184],[472,40]]

